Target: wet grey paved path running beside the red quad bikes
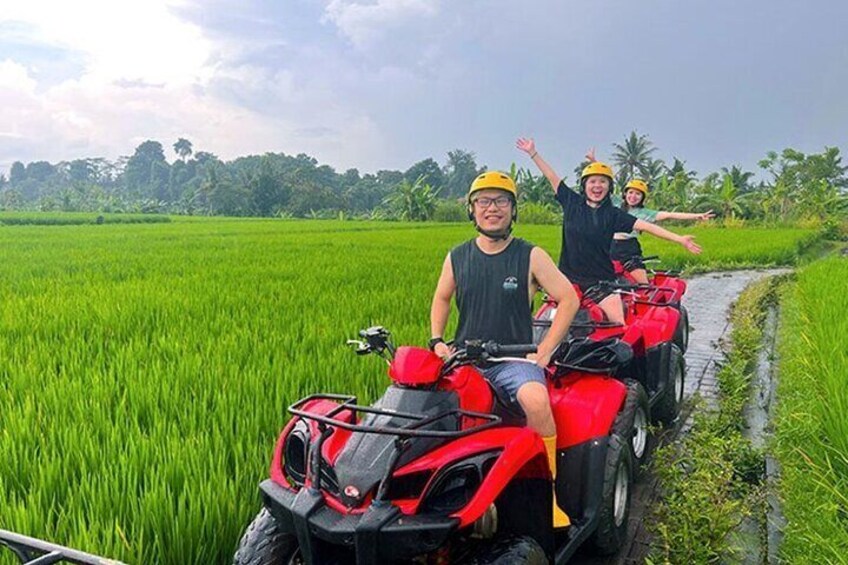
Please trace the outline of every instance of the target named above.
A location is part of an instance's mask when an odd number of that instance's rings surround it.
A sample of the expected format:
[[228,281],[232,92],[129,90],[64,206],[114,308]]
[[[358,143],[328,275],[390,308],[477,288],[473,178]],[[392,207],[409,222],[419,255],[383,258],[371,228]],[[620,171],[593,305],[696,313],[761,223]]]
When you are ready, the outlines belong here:
[[[687,280],[683,304],[689,311],[689,349],[686,352],[684,409],[676,425],[667,430],[660,442],[674,441],[691,426],[692,395],[698,393],[709,407],[718,394],[717,361],[722,358],[719,344],[728,333],[730,307],[745,287],[761,278],[788,272],[785,269],[762,271],[728,271],[698,275]],[[627,542],[617,555],[606,558],[591,556],[581,550],[572,563],[583,565],[633,565],[645,562],[650,551],[648,525],[650,507],[659,494],[659,484],[652,475],[645,476],[633,490]]]

